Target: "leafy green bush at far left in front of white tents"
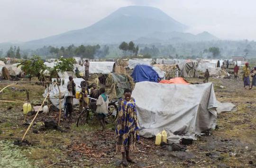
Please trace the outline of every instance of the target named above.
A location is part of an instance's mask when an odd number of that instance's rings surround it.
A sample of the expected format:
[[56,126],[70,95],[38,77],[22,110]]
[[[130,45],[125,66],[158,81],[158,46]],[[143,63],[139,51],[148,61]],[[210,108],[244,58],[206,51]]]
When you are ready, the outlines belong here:
[[18,66],[22,66],[21,69],[29,76],[30,80],[31,77],[36,76],[39,81],[45,81],[44,72],[47,67],[39,56],[35,55],[32,59],[25,60]]

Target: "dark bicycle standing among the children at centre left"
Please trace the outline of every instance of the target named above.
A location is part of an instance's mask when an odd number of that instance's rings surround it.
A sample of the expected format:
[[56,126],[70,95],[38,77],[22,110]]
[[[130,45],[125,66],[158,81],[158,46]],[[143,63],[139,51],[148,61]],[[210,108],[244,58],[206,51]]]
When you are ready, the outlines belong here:
[[[77,118],[76,126],[83,126],[87,123],[88,118],[89,118],[89,113],[90,111],[96,116],[96,111],[95,108],[92,105],[96,105],[97,99],[91,98],[86,96],[87,98],[90,99],[90,103],[87,106],[84,106],[84,93],[82,93],[82,110]],[[93,101],[94,102],[93,102]],[[113,123],[118,116],[118,106],[117,106],[118,100],[110,100],[109,106],[108,106],[108,114],[106,116],[106,122],[107,123]]]

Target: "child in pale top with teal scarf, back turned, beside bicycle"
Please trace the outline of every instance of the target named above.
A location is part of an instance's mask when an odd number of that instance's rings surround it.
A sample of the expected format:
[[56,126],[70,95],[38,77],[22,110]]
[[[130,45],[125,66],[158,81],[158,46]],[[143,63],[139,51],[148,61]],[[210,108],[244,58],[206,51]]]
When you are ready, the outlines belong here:
[[105,88],[100,89],[100,96],[97,99],[97,109],[96,113],[98,115],[98,118],[100,120],[102,130],[106,129],[106,122],[105,118],[108,114],[108,106],[109,106],[109,98],[108,95],[105,93]]

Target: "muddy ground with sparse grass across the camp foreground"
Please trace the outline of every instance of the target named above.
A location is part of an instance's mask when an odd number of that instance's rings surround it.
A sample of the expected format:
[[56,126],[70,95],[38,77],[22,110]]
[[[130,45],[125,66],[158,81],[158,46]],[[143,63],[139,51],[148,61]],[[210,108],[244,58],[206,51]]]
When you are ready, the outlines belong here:
[[[202,83],[202,79],[187,80]],[[1,81],[0,88],[9,82]],[[256,167],[256,88],[244,89],[242,81],[234,79],[210,78],[210,82],[214,84],[217,99],[234,103],[237,111],[219,114],[217,129],[213,130],[210,136],[199,137],[192,145],[186,146],[186,151],[168,151],[166,147],[156,146],[154,139],[142,138],[138,143],[139,151],[132,154],[138,163],[129,164],[128,167]],[[25,101],[24,89],[29,90],[31,102],[43,101],[44,86],[36,84],[14,85],[5,90],[0,99]],[[62,120],[60,123],[66,133],[42,130],[40,128],[44,120],[57,119],[58,112],[40,113],[36,124],[26,136],[26,140],[31,144],[17,146],[13,143],[20,139],[27,129],[27,125],[23,125],[23,102],[0,104],[0,167],[119,166],[121,156],[115,153],[113,124],[108,124],[107,131],[102,132],[99,123],[92,116],[87,125],[76,127],[78,109],[75,109],[73,119]],[[27,121],[30,122],[33,117],[34,114],[27,116]]]

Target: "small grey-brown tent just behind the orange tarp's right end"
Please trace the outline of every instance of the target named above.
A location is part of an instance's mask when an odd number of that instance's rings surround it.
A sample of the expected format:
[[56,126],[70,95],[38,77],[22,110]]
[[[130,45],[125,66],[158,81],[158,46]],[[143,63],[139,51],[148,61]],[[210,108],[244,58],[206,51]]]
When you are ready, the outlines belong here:
[[197,77],[197,62],[189,61],[189,62],[182,62],[178,64],[179,68],[181,69],[181,76],[182,77]]

